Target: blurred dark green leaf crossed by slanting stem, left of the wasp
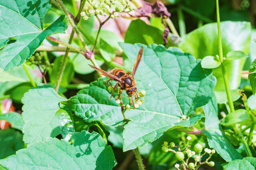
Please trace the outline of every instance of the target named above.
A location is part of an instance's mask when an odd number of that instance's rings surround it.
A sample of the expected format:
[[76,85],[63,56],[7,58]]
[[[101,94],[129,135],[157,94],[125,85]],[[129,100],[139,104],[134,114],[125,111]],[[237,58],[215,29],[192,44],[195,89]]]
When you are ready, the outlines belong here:
[[[59,70],[60,70],[60,66],[62,64],[63,61],[63,55],[59,56],[57,58],[55,58],[54,62],[53,62],[53,67],[52,70],[49,71],[49,78],[50,78],[50,82],[53,84],[57,83],[57,79],[59,76]],[[84,58],[84,60],[86,60]],[[72,81],[72,79],[74,78],[75,72],[74,72],[74,66],[73,66],[73,62],[68,58],[66,61],[66,65],[65,65],[65,69],[63,72],[63,76],[62,79],[60,81],[60,86],[62,87],[66,87],[69,85],[69,83]]]

